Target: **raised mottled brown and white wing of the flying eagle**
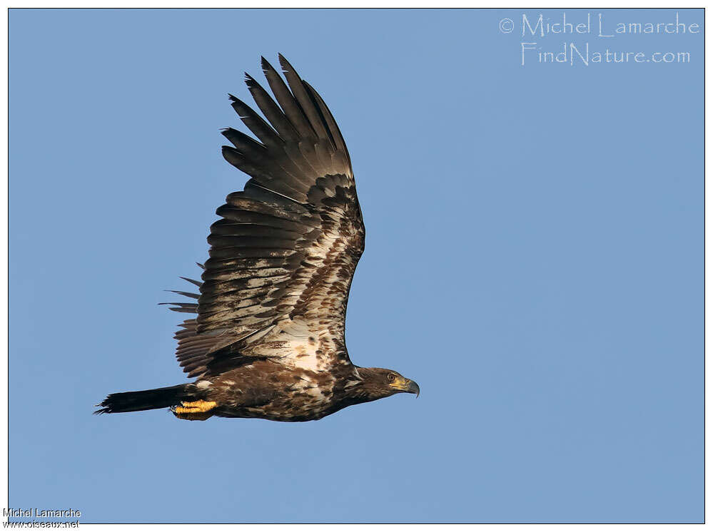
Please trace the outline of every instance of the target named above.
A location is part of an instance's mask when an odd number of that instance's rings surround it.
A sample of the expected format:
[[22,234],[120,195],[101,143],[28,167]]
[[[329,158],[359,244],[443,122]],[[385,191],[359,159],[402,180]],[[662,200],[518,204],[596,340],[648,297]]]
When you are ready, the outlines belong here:
[[[223,131],[234,146],[223,146],[223,156],[251,179],[216,211],[221,220],[211,225],[197,304],[173,309],[198,314],[176,333],[176,356],[191,377],[253,356],[348,361],[344,319],[364,249],[349,154],[322,98],[283,56],[280,64],[287,84],[262,59],[276,103],[246,74],[267,121],[231,96],[257,140]],[[327,349],[319,339],[328,339]]]

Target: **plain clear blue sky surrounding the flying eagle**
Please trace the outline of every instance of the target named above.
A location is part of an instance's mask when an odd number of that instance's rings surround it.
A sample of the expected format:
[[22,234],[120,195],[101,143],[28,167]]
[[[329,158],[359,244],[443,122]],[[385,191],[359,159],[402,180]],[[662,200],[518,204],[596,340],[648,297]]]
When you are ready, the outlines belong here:
[[[598,13],[588,34],[523,37],[514,10],[11,10],[10,506],[702,521],[703,35],[600,37]],[[602,17],[611,34],[675,11]],[[562,43],[644,61],[538,60]],[[689,62],[645,61],[669,51]],[[420,397],[302,424],[92,416],[109,392],[186,382],[182,315],[156,303],[200,275],[246,181],[221,157],[227,93],[247,100],[243,71],[278,52],[353,160],[350,356]]]

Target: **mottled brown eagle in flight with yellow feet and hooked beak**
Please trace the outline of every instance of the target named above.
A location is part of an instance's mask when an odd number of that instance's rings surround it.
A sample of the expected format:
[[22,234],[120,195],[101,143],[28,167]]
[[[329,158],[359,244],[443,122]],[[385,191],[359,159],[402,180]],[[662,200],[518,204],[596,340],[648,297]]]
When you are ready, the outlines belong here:
[[[284,79],[261,58],[273,96],[246,73],[262,115],[233,95],[255,135],[226,128],[223,157],[250,176],[216,211],[199,293],[166,303],[196,314],[176,332],[187,384],[110,394],[95,414],[168,408],[211,416],[311,421],[418,384],[359,367],[344,338],[364,223],[347,146],[309,83],[280,54]],[[286,80],[286,83],[285,83]]]

